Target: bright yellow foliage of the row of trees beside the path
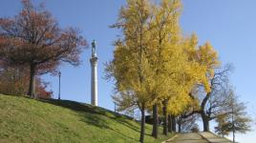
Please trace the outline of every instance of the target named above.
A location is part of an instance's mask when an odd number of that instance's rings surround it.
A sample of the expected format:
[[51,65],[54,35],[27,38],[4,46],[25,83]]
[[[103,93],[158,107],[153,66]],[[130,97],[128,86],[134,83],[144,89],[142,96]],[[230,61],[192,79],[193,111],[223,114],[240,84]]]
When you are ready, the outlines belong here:
[[[202,84],[210,91],[209,78],[219,65],[218,54],[206,43],[198,46],[195,34],[183,38],[179,25],[180,0],[127,0],[117,24],[114,60],[108,72],[115,77],[118,97],[132,96],[148,107],[167,99],[168,112],[179,114],[191,104],[189,93]],[[116,100],[118,100],[116,98]],[[120,100],[121,101],[121,100]]]

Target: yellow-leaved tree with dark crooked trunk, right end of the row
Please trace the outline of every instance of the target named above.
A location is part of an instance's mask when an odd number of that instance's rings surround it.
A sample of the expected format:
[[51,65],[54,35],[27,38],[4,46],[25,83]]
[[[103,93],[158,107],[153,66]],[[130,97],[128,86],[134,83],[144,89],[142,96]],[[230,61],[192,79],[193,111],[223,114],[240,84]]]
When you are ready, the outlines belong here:
[[[206,103],[208,102],[211,94],[216,90],[215,81],[216,69],[220,66],[219,57],[217,51],[209,43],[205,43],[203,46],[198,46],[198,40],[195,34],[186,40],[186,53],[188,59],[191,61],[191,75],[196,79],[196,83],[192,84],[192,89],[200,88],[203,90],[203,100],[199,100],[192,91],[188,94],[192,101],[189,106],[192,107],[192,112],[189,112],[183,116],[189,116],[193,113],[200,113],[203,119],[203,131],[209,131],[209,118],[204,110]],[[223,83],[222,83],[223,84]],[[186,107],[188,109],[188,107]],[[185,111],[185,110],[184,110]]]

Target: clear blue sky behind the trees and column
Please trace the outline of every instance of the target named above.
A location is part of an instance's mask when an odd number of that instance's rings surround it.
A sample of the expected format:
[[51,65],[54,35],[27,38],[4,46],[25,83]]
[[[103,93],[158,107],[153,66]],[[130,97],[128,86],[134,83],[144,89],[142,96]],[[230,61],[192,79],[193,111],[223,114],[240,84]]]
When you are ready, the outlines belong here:
[[[0,17],[12,16],[21,10],[20,0],[1,0]],[[61,27],[73,26],[91,43],[97,41],[98,104],[113,110],[111,99],[113,84],[104,80],[104,63],[113,57],[113,41],[117,30],[108,26],[117,20],[118,9],[125,0],[38,0],[45,2]],[[38,1],[36,1],[38,3]],[[181,27],[184,34],[196,32],[200,43],[210,41],[219,51],[223,63],[233,63],[231,76],[236,92],[247,103],[247,111],[256,118],[256,1],[255,0],[183,0]],[[74,68],[61,65],[61,97],[90,103],[90,50],[83,52],[82,65]],[[57,77],[43,76],[51,82],[54,97],[57,96]],[[254,123],[255,125],[255,123]],[[255,126],[253,126],[255,129]],[[256,140],[256,132],[238,135],[243,143]]]

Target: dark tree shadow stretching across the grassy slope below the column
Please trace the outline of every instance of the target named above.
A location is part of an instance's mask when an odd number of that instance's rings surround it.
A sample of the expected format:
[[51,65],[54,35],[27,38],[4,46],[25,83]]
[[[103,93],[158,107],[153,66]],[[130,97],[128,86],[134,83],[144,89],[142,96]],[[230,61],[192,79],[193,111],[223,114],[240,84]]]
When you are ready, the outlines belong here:
[[[132,119],[131,117],[119,114],[117,112],[108,111],[108,110],[100,108],[100,107],[95,107],[92,105],[83,104],[83,103],[70,101],[70,100],[42,99],[42,98],[38,99],[38,100],[41,102],[44,102],[44,103],[53,104],[55,106],[64,107],[64,108],[73,110],[75,112],[78,112],[78,114],[81,116],[81,121],[85,122],[89,125],[93,125],[100,129],[111,130],[115,133],[120,134],[121,136],[125,136],[127,138],[139,141],[136,138],[133,138],[124,133],[121,133],[121,129],[120,129],[120,131],[113,129],[112,127],[109,126],[109,123],[107,122],[107,120],[103,119],[103,116],[107,117],[109,119],[117,121],[119,124],[121,124],[127,128],[130,128],[131,130],[139,133],[137,126],[135,126],[134,124],[132,124],[128,121],[128,120]],[[103,115],[103,116],[101,116],[101,115]]]

